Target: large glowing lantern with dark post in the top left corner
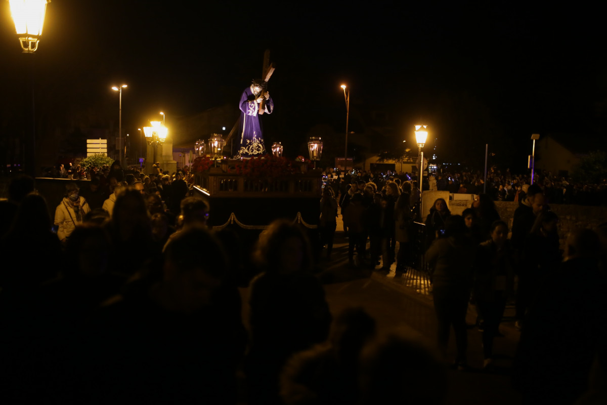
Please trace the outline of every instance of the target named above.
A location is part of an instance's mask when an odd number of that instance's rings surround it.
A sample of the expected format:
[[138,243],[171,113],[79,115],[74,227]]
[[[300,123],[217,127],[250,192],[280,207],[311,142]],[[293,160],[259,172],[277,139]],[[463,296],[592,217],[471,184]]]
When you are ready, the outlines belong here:
[[[15,32],[24,53],[34,53],[38,49],[39,36],[42,35],[47,0],[9,0],[10,13],[15,22]],[[32,86],[32,106],[30,110],[30,128],[25,140],[25,171],[36,177],[36,108],[34,93],[34,64],[30,60],[30,84]]]

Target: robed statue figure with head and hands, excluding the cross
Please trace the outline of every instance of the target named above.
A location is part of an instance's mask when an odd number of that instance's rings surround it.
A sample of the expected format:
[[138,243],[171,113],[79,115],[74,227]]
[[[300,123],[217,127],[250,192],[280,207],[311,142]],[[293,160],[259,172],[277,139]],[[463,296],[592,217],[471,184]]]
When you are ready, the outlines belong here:
[[272,114],[274,102],[265,91],[266,81],[253,80],[240,97],[240,150],[241,157],[255,157],[266,154],[263,145],[262,114]]

